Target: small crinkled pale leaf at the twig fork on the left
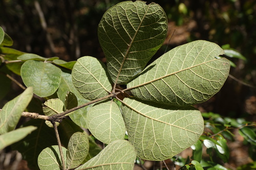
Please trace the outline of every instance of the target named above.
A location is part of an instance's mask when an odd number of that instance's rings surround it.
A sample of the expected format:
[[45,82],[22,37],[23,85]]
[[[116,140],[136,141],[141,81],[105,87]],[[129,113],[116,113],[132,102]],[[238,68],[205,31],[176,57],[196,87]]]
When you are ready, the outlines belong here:
[[[58,114],[63,112],[64,104],[60,99],[50,99],[44,103],[45,107],[42,107],[45,115],[51,116],[54,114]],[[57,126],[59,125],[58,122],[55,123]],[[53,128],[53,125],[50,121],[46,120],[46,125],[50,128]]]

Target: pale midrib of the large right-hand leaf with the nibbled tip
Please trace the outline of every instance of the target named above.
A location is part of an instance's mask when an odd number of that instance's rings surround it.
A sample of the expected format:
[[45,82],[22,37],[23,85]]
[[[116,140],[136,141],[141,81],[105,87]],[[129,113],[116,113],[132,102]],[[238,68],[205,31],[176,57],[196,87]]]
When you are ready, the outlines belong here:
[[[224,59],[224,58],[221,58],[221,59]],[[154,79],[154,80],[151,80],[151,81],[148,81],[148,82],[139,84],[139,85],[137,85],[137,86],[133,86],[133,87],[126,88],[126,89],[124,89],[123,91],[131,90],[131,89],[134,89],[134,88],[138,88],[138,87],[141,87],[141,86],[144,86],[144,85],[153,83],[153,82],[155,82],[155,81],[164,79],[164,78],[166,78],[166,77],[169,77],[169,76],[178,74],[179,72],[185,71],[185,70],[187,70],[187,69],[191,69],[191,68],[197,67],[197,66],[199,66],[199,65],[203,65],[203,64],[206,64],[206,63],[211,62],[211,61],[218,61],[218,60],[221,60],[221,59],[214,59],[214,60],[209,60],[209,61],[207,61],[207,62],[203,62],[203,63],[200,63],[200,64],[196,64],[196,65],[193,65],[193,66],[190,66],[190,67],[187,67],[187,68],[184,68],[184,69],[181,69],[181,70],[172,72],[172,73],[170,73],[170,74],[167,74],[167,75],[165,75],[165,76],[159,77],[159,78],[157,78],[157,79]],[[218,70],[220,70],[220,69],[218,69]]]

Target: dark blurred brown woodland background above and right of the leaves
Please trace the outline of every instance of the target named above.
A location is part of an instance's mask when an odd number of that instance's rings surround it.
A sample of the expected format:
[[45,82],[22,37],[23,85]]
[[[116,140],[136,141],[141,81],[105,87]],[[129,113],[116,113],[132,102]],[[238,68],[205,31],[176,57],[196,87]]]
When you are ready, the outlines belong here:
[[[119,2],[121,1],[0,0],[0,26],[13,39],[12,48],[16,50],[42,57],[57,56],[66,61],[93,56],[105,62],[97,37],[98,23],[104,12]],[[256,1],[147,2],[161,5],[168,18],[167,38],[152,60],[160,57],[166,50],[199,39],[227,48],[226,44],[229,44],[230,48],[246,58],[228,58],[236,64],[236,67],[230,69],[231,76],[219,93],[196,107],[202,112],[214,112],[232,118],[243,117],[255,122]],[[16,78],[20,80],[19,77]],[[5,91],[8,95],[0,101],[0,108],[14,98],[18,90],[19,88],[8,93]],[[246,149],[248,147],[242,150]]]

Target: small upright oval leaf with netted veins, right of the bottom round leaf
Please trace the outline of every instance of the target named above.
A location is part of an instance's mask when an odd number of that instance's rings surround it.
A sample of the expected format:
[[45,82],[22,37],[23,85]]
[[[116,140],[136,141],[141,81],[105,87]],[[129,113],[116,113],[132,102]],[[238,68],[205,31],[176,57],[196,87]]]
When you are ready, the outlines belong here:
[[76,168],[87,157],[89,151],[89,140],[86,134],[81,132],[74,133],[69,141],[67,151],[68,169]]

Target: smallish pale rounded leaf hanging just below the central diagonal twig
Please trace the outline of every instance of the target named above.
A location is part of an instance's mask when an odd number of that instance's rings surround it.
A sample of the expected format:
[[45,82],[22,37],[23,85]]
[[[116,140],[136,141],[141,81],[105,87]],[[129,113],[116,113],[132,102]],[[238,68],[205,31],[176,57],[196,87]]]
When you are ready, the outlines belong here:
[[87,113],[87,122],[90,132],[103,143],[124,138],[123,117],[113,100],[94,105]]

